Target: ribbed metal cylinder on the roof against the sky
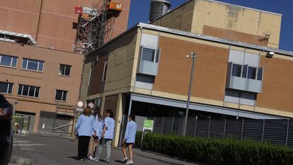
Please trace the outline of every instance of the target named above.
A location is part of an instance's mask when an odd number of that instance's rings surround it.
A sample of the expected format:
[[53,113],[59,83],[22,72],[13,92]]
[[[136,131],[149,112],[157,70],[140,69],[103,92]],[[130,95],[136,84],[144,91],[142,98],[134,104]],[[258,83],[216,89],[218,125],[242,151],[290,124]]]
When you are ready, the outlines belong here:
[[156,20],[168,13],[171,3],[168,0],[151,0],[151,11],[149,12],[149,22]]

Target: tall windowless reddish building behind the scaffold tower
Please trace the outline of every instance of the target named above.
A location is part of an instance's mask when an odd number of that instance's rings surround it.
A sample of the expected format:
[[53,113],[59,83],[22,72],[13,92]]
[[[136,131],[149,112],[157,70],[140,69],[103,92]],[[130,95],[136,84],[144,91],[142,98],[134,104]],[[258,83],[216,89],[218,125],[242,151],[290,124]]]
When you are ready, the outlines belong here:
[[[3,0],[0,4],[0,30],[31,35],[41,47],[73,51],[78,21],[74,7],[98,4],[100,0]],[[122,1],[115,20],[113,38],[127,29],[130,0]]]

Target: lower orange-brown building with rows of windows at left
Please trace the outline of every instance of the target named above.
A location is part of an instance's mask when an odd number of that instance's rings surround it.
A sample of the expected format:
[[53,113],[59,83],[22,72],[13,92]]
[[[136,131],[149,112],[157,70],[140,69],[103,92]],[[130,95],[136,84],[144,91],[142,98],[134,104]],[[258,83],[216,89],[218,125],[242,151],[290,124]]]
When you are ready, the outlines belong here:
[[30,117],[29,131],[52,132],[58,117],[72,123],[83,61],[72,52],[0,42],[0,89],[17,115]]

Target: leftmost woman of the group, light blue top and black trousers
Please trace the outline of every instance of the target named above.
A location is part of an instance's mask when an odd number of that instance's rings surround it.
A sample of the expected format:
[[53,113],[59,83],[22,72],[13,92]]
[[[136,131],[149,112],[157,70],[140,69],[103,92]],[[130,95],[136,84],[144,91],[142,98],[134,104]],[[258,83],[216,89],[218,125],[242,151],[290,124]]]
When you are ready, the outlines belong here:
[[79,116],[75,126],[79,135],[78,159],[84,161],[88,154],[88,142],[93,135],[93,116],[91,115],[91,107],[86,106],[84,113]]

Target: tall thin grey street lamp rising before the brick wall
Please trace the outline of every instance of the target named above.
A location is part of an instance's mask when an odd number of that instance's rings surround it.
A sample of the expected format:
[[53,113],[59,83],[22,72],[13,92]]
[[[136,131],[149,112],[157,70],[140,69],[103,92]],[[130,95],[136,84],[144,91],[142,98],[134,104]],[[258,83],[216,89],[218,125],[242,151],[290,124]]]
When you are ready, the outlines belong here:
[[186,125],[187,125],[187,121],[188,121],[188,110],[189,110],[189,104],[190,104],[190,96],[191,96],[191,90],[193,89],[193,73],[195,72],[195,58],[197,57],[197,55],[195,54],[195,52],[191,52],[190,55],[186,55],[186,57],[187,58],[193,58],[193,67],[192,67],[191,73],[190,73],[189,90],[188,90],[188,102],[187,102],[187,105],[186,105],[185,121],[184,121],[184,125],[183,125],[183,136],[185,136]]

